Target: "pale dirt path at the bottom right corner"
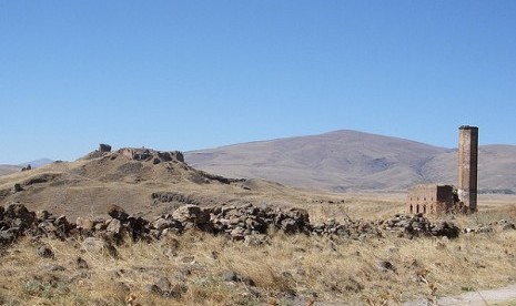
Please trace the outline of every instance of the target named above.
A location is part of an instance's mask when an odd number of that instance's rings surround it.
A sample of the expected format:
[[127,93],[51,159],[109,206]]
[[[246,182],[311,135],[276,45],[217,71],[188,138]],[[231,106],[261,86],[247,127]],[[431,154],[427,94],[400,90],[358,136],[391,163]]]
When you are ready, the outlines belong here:
[[[407,302],[405,306],[423,306],[434,305],[427,300]],[[465,293],[457,296],[439,297],[436,305],[452,306],[452,305],[471,305],[471,306],[486,306],[486,305],[516,305],[516,285],[507,287],[478,290]]]

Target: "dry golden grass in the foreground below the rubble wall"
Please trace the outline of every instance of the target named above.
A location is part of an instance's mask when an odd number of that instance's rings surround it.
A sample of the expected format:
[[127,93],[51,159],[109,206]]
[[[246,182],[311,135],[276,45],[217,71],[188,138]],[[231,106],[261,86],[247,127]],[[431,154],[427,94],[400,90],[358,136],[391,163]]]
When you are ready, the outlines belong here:
[[[38,257],[42,243],[53,249],[53,259]],[[125,305],[131,293],[141,305],[289,305],[290,295],[303,297],[301,303],[383,305],[516,280],[515,231],[454,241],[387,236],[363,242],[274,233],[262,246],[191,232],[120,246],[119,258],[80,246],[24,239],[10,247],[0,262],[0,304]],[[89,269],[77,267],[79,256]],[[381,261],[393,268],[381,268]],[[52,265],[64,271],[52,272]],[[254,286],[224,282],[225,271]],[[184,292],[172,298],[149,293],[148,285],[160,277]]]

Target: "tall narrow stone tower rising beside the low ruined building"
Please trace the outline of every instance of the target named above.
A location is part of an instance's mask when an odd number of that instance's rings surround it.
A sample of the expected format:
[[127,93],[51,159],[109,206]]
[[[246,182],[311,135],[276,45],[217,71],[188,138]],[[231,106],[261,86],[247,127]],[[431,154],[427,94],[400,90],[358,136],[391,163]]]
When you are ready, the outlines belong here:
[[458,128],[458,198],[468,212],[476,212],[478,181],[478,128]]

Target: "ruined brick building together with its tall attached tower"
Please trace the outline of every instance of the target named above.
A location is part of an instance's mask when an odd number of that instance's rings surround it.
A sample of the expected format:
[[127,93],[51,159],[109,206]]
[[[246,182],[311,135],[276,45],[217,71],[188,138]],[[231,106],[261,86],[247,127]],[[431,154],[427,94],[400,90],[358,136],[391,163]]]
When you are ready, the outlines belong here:
[[409,214],[471,213],[477,210],[478,128],[458,129],[458,184],[425,184],[411,188],[406,200]]

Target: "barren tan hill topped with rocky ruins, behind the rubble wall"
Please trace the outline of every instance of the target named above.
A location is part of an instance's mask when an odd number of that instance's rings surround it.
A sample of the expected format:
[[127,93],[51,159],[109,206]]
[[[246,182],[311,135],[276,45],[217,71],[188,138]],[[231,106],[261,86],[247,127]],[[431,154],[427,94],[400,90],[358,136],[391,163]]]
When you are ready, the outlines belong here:
[[[124,154],[128,150],[132,156]],[[0,205],[18,202],[30,210],[48,210],[73,220],[104,215],[110,204],[129,213],[154,216],[184,204],[289,206],[318,198],[277,183],[232,180],[198,171],[174,155],[178,152],[145,151],[149,153],[144,155],[131,149],[92,152],[75,162],[55,162],[0,176]],[[163,154],[171,156],[163,159]]]

